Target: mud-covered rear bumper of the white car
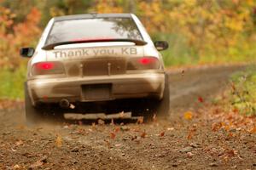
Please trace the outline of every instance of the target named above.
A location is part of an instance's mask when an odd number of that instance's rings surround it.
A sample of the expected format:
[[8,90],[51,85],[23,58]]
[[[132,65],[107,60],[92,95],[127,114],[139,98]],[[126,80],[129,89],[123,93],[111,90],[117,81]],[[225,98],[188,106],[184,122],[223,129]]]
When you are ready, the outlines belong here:
[[163,72],[147,72],[100,77],[41,78],[27,81],[32,103],[104,101],[153,97],[161,99]]

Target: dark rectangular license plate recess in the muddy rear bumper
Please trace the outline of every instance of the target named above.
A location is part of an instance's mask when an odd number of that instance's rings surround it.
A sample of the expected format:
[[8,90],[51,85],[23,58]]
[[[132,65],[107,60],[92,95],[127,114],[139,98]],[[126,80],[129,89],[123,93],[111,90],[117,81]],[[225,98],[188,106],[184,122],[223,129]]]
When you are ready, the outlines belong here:
[[111,98],[112,84],[87,84],[82,86],[85,100],[104,100]]

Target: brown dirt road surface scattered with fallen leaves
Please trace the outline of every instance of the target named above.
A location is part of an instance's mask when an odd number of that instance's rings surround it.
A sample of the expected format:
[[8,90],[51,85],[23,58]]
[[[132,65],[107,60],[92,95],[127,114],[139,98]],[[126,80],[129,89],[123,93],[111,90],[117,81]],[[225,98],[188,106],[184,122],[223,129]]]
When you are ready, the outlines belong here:
[[[170,71],[172,112],[142,124],[26,127],[22,105],[14,104],[0,111],[0,169],[256,169],[255,134],[215,132],[214,120],[207,119],[207,103],[241,69]],[[185,119],[186,111],[193,118]]]

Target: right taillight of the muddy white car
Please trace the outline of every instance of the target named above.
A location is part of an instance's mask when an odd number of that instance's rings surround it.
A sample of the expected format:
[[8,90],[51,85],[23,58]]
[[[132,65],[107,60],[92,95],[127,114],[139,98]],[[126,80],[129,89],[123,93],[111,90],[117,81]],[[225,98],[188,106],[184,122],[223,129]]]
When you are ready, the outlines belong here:
[[151,56],[130,58],[127,65],[127,70],[151,70],[159,68],[159,59]]

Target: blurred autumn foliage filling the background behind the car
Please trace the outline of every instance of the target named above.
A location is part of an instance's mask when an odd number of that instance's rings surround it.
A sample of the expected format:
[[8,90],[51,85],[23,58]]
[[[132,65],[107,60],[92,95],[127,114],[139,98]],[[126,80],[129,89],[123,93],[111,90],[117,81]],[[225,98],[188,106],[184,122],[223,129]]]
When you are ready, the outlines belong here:
[[[137,14],[153,40],[169,42],[162,53],[168,66],[255,60],[253,0],[0,0],[0,68],[25,75],[27,60],[20,58],[19,49],[35,48],[50,18],[86,13]],[[0,79],[9,77],[2,73]],[[9,84],[13,82],[4,87]]]

